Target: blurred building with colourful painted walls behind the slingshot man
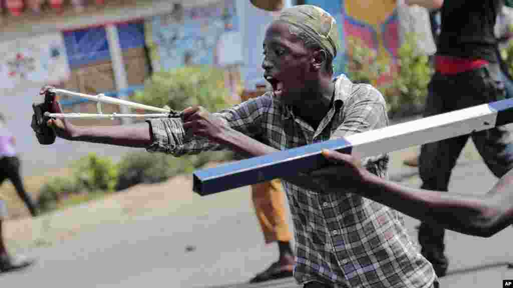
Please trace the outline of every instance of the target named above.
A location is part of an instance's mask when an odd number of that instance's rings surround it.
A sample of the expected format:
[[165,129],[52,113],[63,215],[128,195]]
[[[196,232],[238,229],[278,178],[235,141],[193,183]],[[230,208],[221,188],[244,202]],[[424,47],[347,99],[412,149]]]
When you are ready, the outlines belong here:
[[[88,152],[115,156],[128,148],[90,143],[38,145],[30,129],[31,104],[45,84],[127,98],[153,71],[183,65],[222,67],[229,97],[265,87],[261,63],[266,26],[277,16],[248,0],[0,0],[0,106],[19,141],[26,171],[62,166]],[[394,64],[397,55],[395,2],[285,0],[285,6],[317,5],[337,19],[342,43],[359,37]],[[345,48],[343,49],[345,50]],[[345,51],[334,61],[344,72]],[[386,79],[385,79],[386,80]],[[260,93],[260,92],[256,92]],[[82,99],[60,99],[65,112],[94,112]],[[103,111],[125,112],[103,105]],[[83,125],[120,120],[80,120]]]

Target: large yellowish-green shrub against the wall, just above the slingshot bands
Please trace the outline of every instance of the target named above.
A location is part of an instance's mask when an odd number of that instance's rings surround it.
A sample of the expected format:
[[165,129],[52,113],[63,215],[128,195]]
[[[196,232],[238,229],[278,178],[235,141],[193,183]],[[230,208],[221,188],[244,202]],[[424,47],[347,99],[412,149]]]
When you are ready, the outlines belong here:
[[185,66],[172,71],[154,72],[144,89],[131,97],[146,105],[183,110],[203,106],[210,112],[225,107],[228,90],[224,86],[224,71],[211,66]]

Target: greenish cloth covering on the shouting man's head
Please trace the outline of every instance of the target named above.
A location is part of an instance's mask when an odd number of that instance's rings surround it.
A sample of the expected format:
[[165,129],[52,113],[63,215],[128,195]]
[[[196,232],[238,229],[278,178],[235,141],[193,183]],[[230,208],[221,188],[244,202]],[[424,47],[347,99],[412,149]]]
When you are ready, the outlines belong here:
[[307,33],[334,58],[340,49],[337,22],[328,12],[313,5],[298,5],[282,10],[278,20]]

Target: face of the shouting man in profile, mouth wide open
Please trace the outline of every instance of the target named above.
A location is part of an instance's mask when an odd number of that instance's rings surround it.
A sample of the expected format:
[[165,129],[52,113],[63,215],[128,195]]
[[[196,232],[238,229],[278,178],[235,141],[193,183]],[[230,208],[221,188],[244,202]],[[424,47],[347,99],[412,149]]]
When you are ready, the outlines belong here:
[[264,78],[271,84],[274,97],[284,104],[297,105],[310,83],[311,52],[290,33],[287,23],[275,21],[265,33],[264,55]]

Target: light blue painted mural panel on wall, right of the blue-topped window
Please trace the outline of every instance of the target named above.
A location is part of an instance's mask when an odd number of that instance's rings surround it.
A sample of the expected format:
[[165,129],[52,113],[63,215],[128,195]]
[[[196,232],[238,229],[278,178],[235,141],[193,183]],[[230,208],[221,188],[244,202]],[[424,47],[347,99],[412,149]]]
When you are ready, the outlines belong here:
[[[230,35],[223,35],[225,33]],[[189,64],[228,65],[241,61],[238,33],[235,0],[202,7],[184,7],[176,3],[171,13],[153,16],[145,23],[146,45],[150,49],[154,71]],[[229,57],[221,53],[226,47],[220,48],[220,43],[226,43],[226,39],[235,41],[230,43]]]

